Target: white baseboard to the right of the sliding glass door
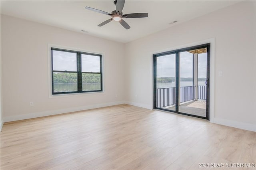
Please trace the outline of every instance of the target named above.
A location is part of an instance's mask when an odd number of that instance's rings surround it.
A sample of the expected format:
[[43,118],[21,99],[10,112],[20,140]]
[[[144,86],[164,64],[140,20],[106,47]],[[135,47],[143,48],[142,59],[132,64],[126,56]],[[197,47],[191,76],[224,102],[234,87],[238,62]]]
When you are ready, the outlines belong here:
[[214,123],[219,124],[219,125],[241,128],[241,129],[244,129],[244,130],[250,130],[250,131],[256,132],[256,125],[255,124],[230,121],[230,120],[227,120],[227,119],[220,119],[220,118],[214,118]]

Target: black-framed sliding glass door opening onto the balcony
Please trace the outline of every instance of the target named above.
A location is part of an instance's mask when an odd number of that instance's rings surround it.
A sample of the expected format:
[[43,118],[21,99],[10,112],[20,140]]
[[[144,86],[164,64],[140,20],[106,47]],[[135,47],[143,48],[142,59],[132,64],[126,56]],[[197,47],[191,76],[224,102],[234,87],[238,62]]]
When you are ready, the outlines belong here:
[[210,44],[154,55],[154,108],[209,119]]

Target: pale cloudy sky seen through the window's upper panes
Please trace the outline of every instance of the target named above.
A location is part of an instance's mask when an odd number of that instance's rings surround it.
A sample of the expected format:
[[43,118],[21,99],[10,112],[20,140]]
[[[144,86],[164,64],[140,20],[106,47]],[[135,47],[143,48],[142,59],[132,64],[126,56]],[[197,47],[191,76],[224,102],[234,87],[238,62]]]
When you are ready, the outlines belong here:
[[[53,70],[76,71],[76,53],[52,51]],[[82,54],[82,72],[100,72],[100,57]]]

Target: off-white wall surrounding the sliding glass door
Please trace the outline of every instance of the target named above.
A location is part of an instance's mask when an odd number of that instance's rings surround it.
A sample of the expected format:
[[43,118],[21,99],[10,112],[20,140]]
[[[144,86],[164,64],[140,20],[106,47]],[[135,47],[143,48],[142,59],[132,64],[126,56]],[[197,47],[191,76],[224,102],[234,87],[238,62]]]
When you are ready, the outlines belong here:
[[255,131],[255,19],[255,1],[245,1],[127,43],[127,103],[153,107],[153,53],[214,38],[212,122]]

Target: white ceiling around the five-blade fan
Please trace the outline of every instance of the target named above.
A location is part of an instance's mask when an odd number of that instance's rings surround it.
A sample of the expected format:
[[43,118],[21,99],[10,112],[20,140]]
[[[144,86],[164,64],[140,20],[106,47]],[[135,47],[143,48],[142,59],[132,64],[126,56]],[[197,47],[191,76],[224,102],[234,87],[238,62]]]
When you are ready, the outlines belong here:
[[[148,13],[148,18],[125,18],[124,20],[131,27],[129,30],[115,21],[98,27],[98,24],[110,19],[110,16],[85,9],[86,6],[89,6],[111,13],[116,7],[112,0],[1,0],[1,14],[126,43],[237,2],[239,1],[126,0],[123,14]],[[169,24],[175,20],[178,22]],[[81,30],[86,32],[81,32]]]

